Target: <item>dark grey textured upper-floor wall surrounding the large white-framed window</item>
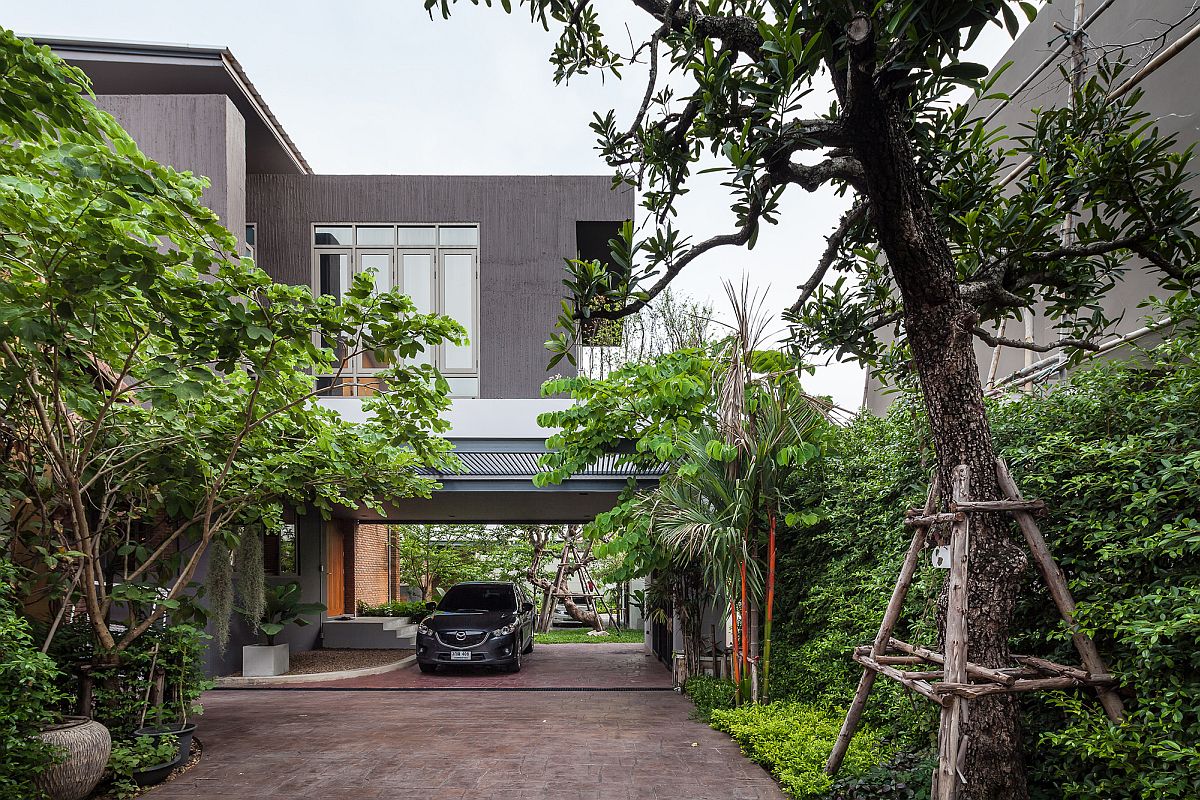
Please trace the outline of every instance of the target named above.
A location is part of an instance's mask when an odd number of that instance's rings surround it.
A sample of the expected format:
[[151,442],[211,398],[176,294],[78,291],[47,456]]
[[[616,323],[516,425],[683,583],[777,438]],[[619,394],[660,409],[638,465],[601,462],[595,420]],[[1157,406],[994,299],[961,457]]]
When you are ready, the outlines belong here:
[[479,223],[480,397],[538,397],[575,223],[634,215],[632,192],[610,185],[607,176],[251,175],[247,218],[263,269],[302,285],[312,281],[313,223]]

